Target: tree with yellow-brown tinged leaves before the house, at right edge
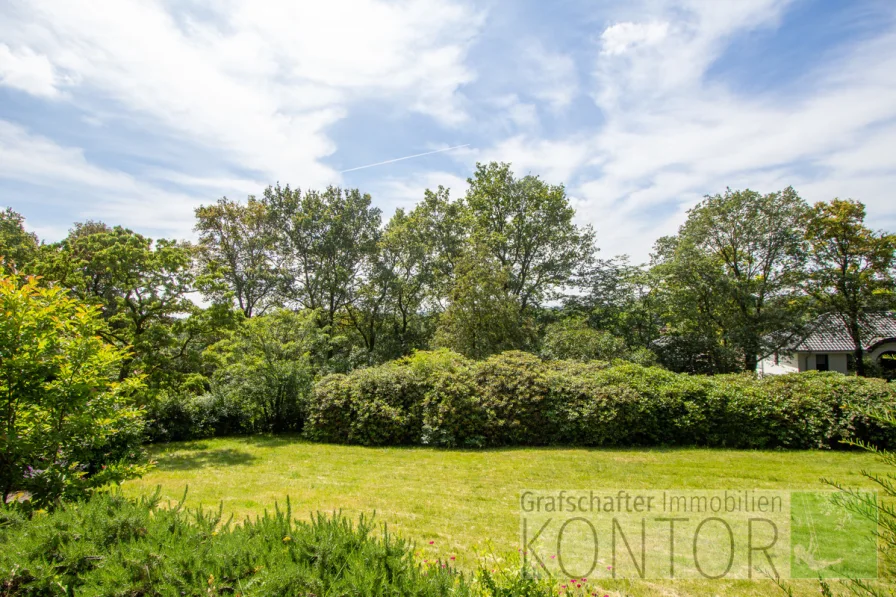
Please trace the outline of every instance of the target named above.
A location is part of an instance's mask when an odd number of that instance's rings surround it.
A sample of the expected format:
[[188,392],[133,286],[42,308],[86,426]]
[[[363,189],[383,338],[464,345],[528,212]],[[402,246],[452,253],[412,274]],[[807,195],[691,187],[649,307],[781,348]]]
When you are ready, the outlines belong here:
[[834,199],[812,207],[806,239],[810,247],[806,291],[820,311],[833,314],[846,327],[856,373],[864,376],[866,318],[896,304],[896,235],[866,227],[861,202]]

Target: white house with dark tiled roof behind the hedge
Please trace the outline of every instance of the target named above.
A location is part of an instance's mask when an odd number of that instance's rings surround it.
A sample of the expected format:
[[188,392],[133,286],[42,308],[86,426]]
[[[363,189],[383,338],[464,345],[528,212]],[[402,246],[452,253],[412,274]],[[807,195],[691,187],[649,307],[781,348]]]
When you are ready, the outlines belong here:
[[[796,371],[837,371],[846,374],[853,368],[853,340],[843,322],[833,315],[819,317],[811,332],[782,350],[760,359],[761,375],[779,375]],[[896,312],[869,315],[862,325],[867,357],[892,367],[896,364]]]

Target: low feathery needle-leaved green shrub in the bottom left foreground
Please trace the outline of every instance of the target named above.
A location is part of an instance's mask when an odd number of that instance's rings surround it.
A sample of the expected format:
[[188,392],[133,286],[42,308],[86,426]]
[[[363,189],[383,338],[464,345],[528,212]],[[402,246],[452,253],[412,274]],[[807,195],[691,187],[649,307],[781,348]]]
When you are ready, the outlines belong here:
[[220,511],[160,507],[157,495],[100,494],[30,521],[4,518],[0,591],[10,597],[471,594],[459,573],[417,563],[413,546],[371,520],[297,522],[288,500],[239,525]]

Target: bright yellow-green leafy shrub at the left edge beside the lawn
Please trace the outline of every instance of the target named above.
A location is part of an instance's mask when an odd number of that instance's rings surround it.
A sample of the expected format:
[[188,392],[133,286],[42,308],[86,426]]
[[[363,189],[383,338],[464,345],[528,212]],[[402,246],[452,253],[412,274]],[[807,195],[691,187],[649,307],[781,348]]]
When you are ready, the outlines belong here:
[[[0,271],[2,273],[2,271]],[[143,471],[137,377],[105,343],[98,310],[35,277],[0,277],[0,489],[37,505]]]

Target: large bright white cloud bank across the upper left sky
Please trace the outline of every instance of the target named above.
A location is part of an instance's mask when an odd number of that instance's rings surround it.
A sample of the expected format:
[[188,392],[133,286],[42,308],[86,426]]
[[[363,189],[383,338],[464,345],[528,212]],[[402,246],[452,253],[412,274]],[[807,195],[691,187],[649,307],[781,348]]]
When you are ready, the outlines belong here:
[[265,179],[332,180],[320,162],[336,149],[327,129],[356,102],[384,97],[443,123],[466,118],[458,89],[474,77],[464,57],[481,17],[465,5],[196,6],[202,19],[158,0],[41,0],[0,9],[0,36],[72,73],[82,107],[111,99],[132,123]]

